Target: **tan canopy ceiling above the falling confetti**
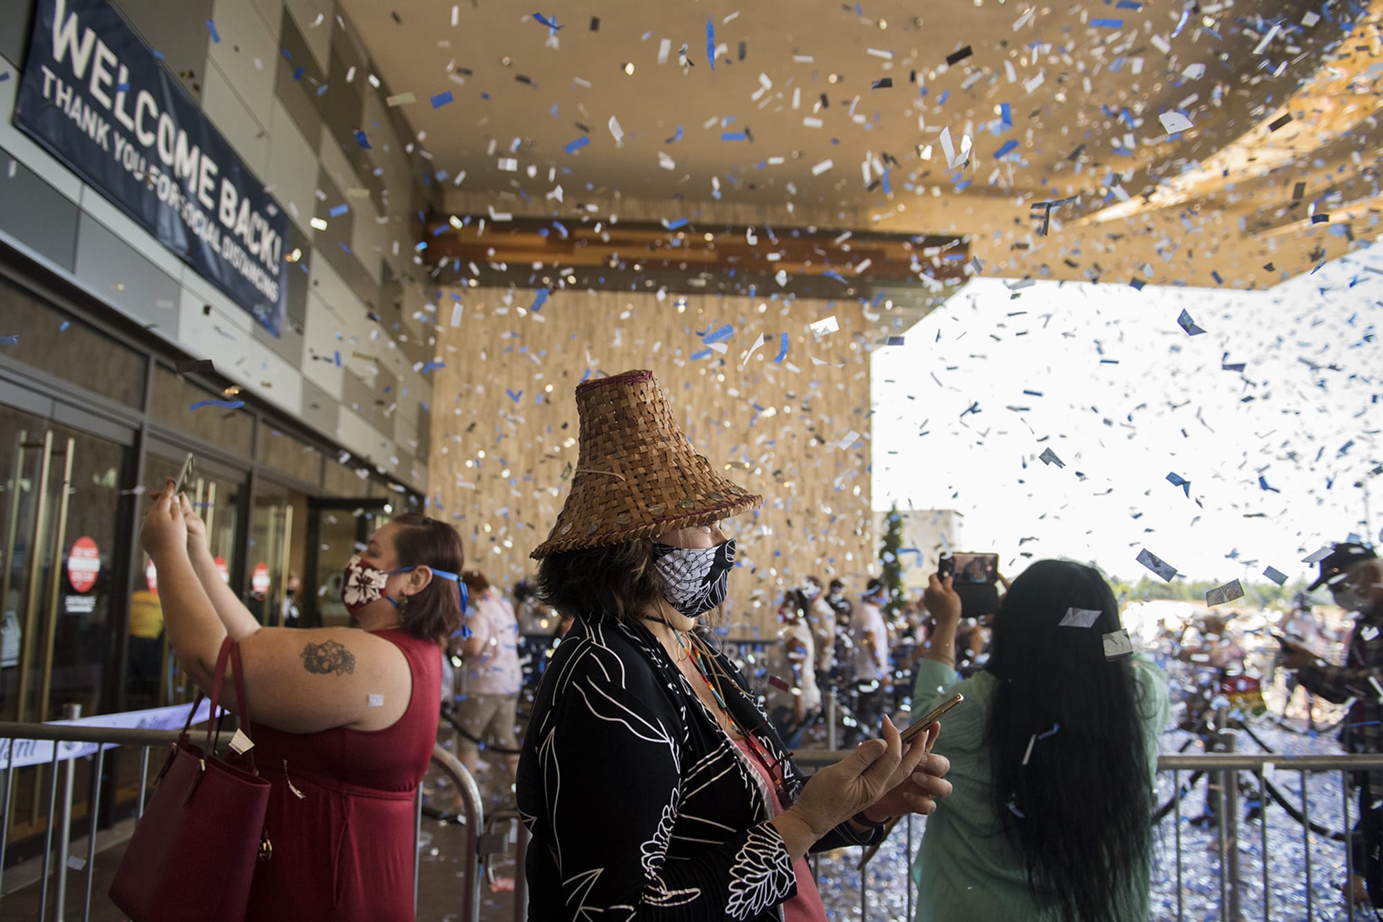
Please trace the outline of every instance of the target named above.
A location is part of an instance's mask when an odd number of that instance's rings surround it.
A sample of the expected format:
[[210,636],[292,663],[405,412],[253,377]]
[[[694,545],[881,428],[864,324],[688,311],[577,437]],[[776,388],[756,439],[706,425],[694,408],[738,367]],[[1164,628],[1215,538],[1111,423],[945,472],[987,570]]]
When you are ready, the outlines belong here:
[[[1307,0],[342,0],[448,210],[958,234],[992,274],[1122,281],[1185,227],[1202,244],[1155,281],[1232,263],[1242,287],[1371,233],[1380,3],[1342,43]],[[1194,127],[1169,136],[1174,109]]]

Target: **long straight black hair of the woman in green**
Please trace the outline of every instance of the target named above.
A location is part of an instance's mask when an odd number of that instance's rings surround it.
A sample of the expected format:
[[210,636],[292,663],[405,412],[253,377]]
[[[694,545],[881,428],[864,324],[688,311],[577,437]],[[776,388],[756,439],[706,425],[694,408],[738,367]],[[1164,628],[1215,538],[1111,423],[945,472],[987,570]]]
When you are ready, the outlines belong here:
[[[1070,608],[1099,616],[1059,627]],[[1152,753],[1133,660],[1104,652],[1104,634],[1117,630],[1119,606],[1098,570],[1039,561],[1004,597],[986,665],[999,680],[993,810],[1033,896],[1072,922],[1119,918],[1151,861]]]

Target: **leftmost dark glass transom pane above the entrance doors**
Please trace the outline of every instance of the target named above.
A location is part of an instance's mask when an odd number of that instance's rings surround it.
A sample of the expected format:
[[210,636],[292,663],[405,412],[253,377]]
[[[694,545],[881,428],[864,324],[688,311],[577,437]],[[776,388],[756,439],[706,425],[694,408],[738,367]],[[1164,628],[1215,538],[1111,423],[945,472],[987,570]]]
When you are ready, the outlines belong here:
[[147,359],[122,346],[76,317],[0,280],[0,317],[7,335],[18,335],[18,349],[6,359],[32,365],[112,400],[144,406]]

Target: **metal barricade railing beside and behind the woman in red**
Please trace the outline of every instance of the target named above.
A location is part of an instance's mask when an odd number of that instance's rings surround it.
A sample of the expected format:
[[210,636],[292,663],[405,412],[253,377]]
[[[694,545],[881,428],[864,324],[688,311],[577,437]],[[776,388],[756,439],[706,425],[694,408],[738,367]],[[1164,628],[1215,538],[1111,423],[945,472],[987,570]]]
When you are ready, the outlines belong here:
[[[53,743],[53,757],[43,764],[50,767],[48,775],[48,790],[47,790],[47,814],[44,817],[43,829],[43,853],[40,857],[40,871],[36,883],[39,885],[39,907],[37,915],[35,916],[37,922],[47,922],[48,914],[48,892],[53,889],[55,882],[55,893],[53,897],[53,914],[51,918],[61,922],[68,916],[68,869],[76,864],[77,869],[84,872],[84,886],[83,886],[83,901],[82,901],[82,919],[89,922],[91,918],[91,889],[93,880],[95,879],[95,864],[97,864],[97,832],[101,814],[101,789],[102,789],[102,770],[105,767],[105,753],[108,748],[124,746],[124,748],[138,748],[138,796],[134,804],[136,822],[144,814],[144,803],[148,799],[148,778],[149,778],[149,753],[158,752],[162,759],[163,753],[167,750],[169,745],[176,743],[178,739],[178,732],[171,730],[118,730],[105,727],[77,727],[68,724],[29,724],[29,723],[6,723],[0,721],[0,741],[10,741],[6,746],[4,757],[0,759],[0,858],[6,853],[8,843],[8,833],[11,825],[11,806],[14,799],[14,782],[15,775],[25,768],[25,766],[14,766],[14,753],[17,742],[51,742]],[[91,754],[76,754],[71,752],[64,752],[64,746],[71,745],[95,745],[97,749]],[[71,854],[72,842],[72,815],[73,815],[73,782],[76,778],[76,768],[79,760],[87,760],[91,763],[91,785],[87,796],[86,815],[87,815],[87,844],[86,857],[77,858]],[[41,766],[33,766],[39,768]],[[474,778],[466,771],[465,766],[454,756],[451,752],[437,745],[433,746],[431,767],[440,771],[455,789],[459,797],[461,813],[459,817],[463,820],[463,872],[462,878],[462,894],[459,907],[459,922],[479,922],[480,921],[480,882],[484,876],[484,858],[485,851],[481,847],[481,833],[485,828],[484,808],[480,799],[480,789],[476,786]],[[418,851],[414,858],[414,904],[416,908],[418,903],[418,886],[422,865],[422,818],[423,818],[423,797],[425,785],[419,786],[416,796],[416,825],[415,825],[415,843],[418,844]],[[33,796],[37,799],[41,788],[36,785]],[[520,824],[521,828],[523,824]],[[58,846],[54,849],[53,839],[54,835],[58,836]],[[14,868],[11,868],[11,876]],[[4,889],[4,867],[0,861],[0,900],[6,894]],[[14,896],[15,892],[10,892],[8,896]],[[452,918],[452,916],[449,916]]]

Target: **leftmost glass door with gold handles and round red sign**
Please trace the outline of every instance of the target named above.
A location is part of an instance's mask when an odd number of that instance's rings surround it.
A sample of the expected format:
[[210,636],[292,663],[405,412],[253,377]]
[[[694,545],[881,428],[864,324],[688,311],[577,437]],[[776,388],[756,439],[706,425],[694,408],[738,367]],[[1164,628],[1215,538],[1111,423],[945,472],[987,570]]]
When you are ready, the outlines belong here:
[[[102,713],[129,572],[130,447],[3,404],[0,433],[0,716]],[[80,761],[79,786],[87,770]],[[15,772],[12,842],[44,828],[44,772]]]

